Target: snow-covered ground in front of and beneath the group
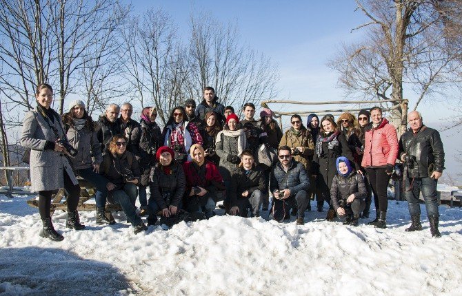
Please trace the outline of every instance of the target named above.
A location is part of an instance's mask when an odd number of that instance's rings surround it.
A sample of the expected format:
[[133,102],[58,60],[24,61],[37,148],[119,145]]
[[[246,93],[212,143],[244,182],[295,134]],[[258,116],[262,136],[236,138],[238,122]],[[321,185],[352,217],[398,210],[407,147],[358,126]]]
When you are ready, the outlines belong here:
[[0,196],[0,295],[462,295],[459,208],[440,207],[439,239],[423,205],[423,231],[405,233],[394,201],[388,229],[312,211],[304,226],[216,216],[134,235],[123,213],[104,227],[81,213],[87,229],[73,231],[57,211],[65,240],[51,242],[28,198]]

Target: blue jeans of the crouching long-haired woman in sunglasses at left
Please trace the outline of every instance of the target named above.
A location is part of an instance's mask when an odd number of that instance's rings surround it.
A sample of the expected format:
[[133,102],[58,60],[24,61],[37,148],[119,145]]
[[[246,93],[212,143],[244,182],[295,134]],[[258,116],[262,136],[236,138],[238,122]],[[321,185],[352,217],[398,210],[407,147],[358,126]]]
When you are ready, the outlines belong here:
[[137,200],[137,185],[125,183],[122,189],[112,191],[112,200],[114,204],[120,204],[123,213],[133,226],[143,222],[137,215],[137,208],[134,207],[134,202]]

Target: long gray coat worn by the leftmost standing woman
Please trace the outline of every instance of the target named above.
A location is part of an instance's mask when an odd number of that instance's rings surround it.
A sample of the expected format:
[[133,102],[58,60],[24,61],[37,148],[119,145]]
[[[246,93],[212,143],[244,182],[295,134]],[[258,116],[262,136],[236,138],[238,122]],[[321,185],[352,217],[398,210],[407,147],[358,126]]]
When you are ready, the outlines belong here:
[[47,141],[56,142],[50,125],[56,127],[58,136],[64,136],[63,122],[61,118],[55,118],[54,123],[48,118],[43,118],[35,111],[26,113],[21,133],[21,146],[32,149],[30,151],[30,191],[48,191],[64,187],[64,170],[68,173],[73,184],[78,184],[72,167],[66,156],[54,150],[44,150]]

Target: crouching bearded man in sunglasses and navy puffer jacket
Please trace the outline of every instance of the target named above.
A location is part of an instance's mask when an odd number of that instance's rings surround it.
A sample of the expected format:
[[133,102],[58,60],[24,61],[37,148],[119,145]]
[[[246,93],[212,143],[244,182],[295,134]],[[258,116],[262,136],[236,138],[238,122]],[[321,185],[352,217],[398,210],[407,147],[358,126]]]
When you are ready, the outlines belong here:
[[297,205],[297,224],[303,225],[308,207],[310,179],[305,167],[292,159],[292,149],[281,146],[278,149],[279,162],[270,174],[270,191],[273,193],[272,216],[281,222],[290,218],[289,209]]

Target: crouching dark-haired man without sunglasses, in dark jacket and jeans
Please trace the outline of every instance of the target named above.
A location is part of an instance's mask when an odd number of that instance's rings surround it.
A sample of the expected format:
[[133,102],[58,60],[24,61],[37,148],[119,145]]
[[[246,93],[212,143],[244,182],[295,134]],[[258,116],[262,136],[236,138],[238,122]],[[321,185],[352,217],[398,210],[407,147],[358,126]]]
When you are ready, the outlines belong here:
[[247,217],[250,209],[253,217],[259,217],[265,187],[264,173],[255,167],[252,151],[244,150],[241,163],[231,178],[230,214]]

